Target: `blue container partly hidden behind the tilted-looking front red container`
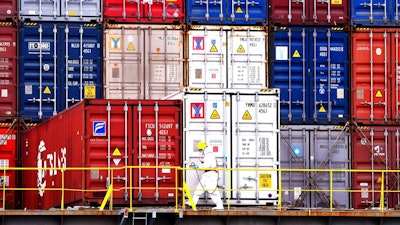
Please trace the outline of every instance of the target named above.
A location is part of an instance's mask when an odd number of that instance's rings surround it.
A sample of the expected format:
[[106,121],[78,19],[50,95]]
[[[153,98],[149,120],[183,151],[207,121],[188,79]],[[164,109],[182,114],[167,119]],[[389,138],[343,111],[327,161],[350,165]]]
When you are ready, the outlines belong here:
[[40,122],[83,98],[101,98],[102,36],[96,23],[22,23],[20,117]]

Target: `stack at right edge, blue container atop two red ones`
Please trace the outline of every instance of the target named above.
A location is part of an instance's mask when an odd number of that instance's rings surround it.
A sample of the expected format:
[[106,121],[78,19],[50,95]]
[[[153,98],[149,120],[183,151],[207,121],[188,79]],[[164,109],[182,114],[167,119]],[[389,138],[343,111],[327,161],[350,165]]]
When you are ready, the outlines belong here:
[[[399,168],[399,24],[398,1],[352,1],[352,129],[354,208],[379,205],[382,184],[398,190]],[[384,175],[384,177],[382,177]],[[399,196],[384,196],[385,207],[399,206]]]

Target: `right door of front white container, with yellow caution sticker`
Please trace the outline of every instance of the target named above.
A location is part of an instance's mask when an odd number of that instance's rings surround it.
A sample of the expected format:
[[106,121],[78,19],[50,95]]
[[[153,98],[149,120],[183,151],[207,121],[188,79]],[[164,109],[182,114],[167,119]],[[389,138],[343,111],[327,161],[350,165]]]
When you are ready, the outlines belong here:
[[238,202],[278,199],[278,107],[273,95],[232,96],[232,197]]

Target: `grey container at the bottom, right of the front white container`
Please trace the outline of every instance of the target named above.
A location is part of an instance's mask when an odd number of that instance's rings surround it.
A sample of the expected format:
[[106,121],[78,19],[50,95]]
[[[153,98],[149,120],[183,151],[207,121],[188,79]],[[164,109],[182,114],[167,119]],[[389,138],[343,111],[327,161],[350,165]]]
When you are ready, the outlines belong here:
[[[347,126],[281,126],[282,169],[350,169]],[[333,173],[335,208],[350,208],[350,173]],[[294,207],[330,207],[328,172],[283,172],[282,201]],[[307,191],[312,190],[312,191]],[[339,191],[340,190],[340,191]]]

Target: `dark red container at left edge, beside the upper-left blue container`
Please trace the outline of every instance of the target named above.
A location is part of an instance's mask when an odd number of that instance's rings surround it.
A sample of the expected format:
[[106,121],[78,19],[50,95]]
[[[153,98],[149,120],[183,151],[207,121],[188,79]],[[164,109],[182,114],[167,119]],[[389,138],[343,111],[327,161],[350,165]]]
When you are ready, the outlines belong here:
[[0,121],[17,116],[17,29],[0,22]]

